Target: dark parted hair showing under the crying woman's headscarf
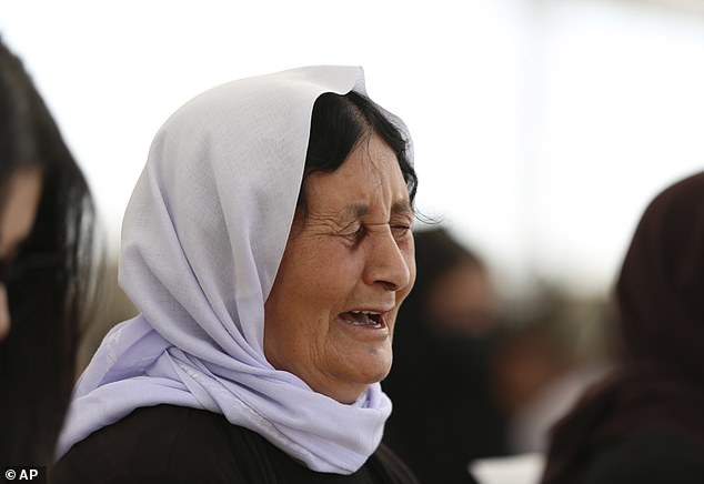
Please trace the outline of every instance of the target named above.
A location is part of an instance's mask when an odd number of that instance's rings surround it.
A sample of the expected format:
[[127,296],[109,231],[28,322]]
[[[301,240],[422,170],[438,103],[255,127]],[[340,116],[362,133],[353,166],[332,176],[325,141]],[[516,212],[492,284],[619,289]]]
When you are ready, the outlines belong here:
[[396,155],[413,203],[418,177],[409,160],[409,140],[379,105],[351,91],[346,94],[326,92],[313,104],[299,206],[305,203],[305,180],[311,173],[338,170],[354,148],[373,133]]

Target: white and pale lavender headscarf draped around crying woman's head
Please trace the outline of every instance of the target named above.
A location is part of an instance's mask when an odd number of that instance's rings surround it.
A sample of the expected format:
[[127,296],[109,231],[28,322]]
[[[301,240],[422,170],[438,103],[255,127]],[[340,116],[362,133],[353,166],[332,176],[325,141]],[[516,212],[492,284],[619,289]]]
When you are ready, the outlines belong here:
[[351,90],[364,93],[360,68],[294,69],[207,91],[162,127],[122,225],[120,284],[141,314],[81,376],[59,456],[162,403],[221,413],[319,472],[350,474],[375,451],[391,413],[379,383],[342,404],[263,352],[313,103]]

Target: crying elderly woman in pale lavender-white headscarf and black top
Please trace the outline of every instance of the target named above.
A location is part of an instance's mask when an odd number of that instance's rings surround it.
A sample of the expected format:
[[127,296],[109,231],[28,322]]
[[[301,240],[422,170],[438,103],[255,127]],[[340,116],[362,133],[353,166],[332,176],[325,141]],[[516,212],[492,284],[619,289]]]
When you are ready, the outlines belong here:
[[153,141],[53,482],[414,482],[380,446],[415,174],[358,68],[210,90]]

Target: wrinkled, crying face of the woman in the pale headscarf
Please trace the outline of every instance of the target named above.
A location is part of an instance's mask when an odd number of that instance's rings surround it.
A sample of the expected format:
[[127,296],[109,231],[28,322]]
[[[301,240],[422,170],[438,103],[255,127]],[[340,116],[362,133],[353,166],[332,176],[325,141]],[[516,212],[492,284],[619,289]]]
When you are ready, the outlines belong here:
[[413,210],[393,151],[375,134],[305,184],[264,305],[264,352],[314,391],[354,402],[391,369],[399,305],[415,281]]

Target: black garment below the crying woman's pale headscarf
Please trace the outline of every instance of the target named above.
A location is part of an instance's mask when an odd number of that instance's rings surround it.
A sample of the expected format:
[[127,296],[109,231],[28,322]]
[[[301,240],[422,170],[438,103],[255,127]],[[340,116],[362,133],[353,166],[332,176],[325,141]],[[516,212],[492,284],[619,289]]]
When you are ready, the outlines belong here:
[[61,483],[418,483],[385,446],[351,475],[319,473],[223,415],[173,405],[138,409],[76,444],[51,470]]

